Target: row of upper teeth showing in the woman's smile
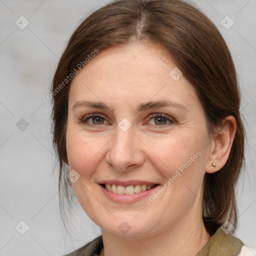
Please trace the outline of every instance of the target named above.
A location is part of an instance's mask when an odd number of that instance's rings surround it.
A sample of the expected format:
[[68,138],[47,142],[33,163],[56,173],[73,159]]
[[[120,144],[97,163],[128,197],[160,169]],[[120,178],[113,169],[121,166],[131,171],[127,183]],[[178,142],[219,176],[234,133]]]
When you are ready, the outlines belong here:
[[105,184],[105,189],[112,193],[117,193],[117,194],[134,194],[134,193],[139,193],[141,191],[145,191],[150,189],[151,187],[154,186],[154,184],[150,185],[129,185],[129,186],[121,186],[121,185],[114,185],[114,184]]

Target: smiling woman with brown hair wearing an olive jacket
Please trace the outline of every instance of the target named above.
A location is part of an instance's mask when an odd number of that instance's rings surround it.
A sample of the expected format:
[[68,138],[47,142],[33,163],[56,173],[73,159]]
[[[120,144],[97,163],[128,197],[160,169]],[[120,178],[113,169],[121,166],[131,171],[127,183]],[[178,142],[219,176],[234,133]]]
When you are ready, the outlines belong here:
[[60,202],[72,185],[102,233],[69,256],[240,253],[239,89],[199,10],[181,0],[97,9],[71,35],[51,94]]

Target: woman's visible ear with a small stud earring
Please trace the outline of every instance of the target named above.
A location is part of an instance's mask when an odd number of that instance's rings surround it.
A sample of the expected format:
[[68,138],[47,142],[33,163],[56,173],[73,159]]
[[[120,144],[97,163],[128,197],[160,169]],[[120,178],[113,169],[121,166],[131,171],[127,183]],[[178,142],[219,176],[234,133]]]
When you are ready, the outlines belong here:
[[[236,131],[234,116],[228,115],[222,119],[222,125],[217,129],[214,138],[210,141],[209,159],[205,166],[205,172],[213,173],[221,169],[229,156]],[[216,166],[212,165],[215,163]]]

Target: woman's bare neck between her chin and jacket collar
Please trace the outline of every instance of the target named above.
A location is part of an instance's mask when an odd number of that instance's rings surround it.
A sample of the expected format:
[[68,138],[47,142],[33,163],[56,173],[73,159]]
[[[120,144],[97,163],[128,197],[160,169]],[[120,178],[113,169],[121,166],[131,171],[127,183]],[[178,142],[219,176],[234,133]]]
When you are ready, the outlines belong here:
[[143,238],[136,235],[130,239],[113,236],[104,229],[101,232],[104,248],[100,256],[191,256],[196,255],[211,237],[206,232],[202,219],[191,221],[191,216],[167,226],[161,233]]

